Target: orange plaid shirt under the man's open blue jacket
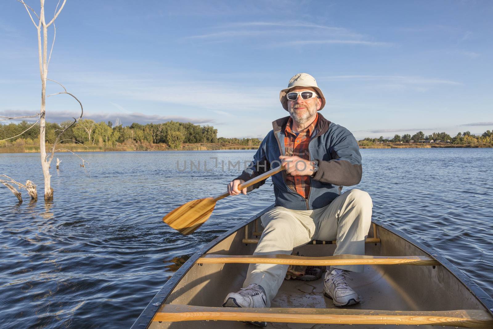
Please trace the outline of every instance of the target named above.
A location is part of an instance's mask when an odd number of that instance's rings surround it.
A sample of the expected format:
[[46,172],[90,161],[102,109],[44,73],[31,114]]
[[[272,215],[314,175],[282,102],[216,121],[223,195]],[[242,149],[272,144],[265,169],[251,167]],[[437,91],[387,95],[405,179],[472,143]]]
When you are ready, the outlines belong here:
[[[287,120],[286,128],[284,132],[286,136],[284,137],[284,148],[285,154],[287,156],[297,155],[302,159],[310,160],[310,151],[308,150],[308,143],[310,143],[311,136],[318,122],[318,113],[313,120],[312,124],[303,132],[299,133],[296,136],[295,133],[291,130],[291,125],[293,123],[293,119],[289,118]],[[290,163],[290,166],[294,166],[295,163]],[[299,170],[303,169],[302,164],[298,164],[297,167]],[[308,198],[310,194],[310,176],[291,176],[286,174],[286,184],[293,191],[300,194],[305,199]]]

